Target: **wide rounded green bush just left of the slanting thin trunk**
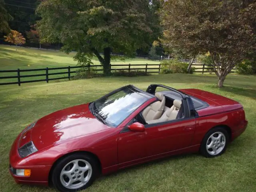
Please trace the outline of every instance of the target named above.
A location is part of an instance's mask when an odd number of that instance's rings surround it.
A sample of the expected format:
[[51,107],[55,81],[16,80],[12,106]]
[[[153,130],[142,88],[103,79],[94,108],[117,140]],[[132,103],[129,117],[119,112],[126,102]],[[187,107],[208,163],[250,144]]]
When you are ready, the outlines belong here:
[[[188,73],[188,65],[189,63],[180,62],[178,60],[164,60],[161,62],[161,73]],[[190,70],[190,74],[195,72],[195,68],[192,67]]]

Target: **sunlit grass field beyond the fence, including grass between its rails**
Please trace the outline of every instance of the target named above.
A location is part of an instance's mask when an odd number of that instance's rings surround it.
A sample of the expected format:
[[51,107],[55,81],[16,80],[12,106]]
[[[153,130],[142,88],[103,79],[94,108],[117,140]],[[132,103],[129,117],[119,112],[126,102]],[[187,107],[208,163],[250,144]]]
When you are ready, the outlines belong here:
[[[0,70],[17,70],[19,69],[37,69],[37,68],[54,68],[54,67],[68,67],[76,66],[77,62],[73,60],[76,53],[71,52],[70,54],[65,54],[64,52],[54,51],[54,50],[39,50],[34,48],[24,48],[18,47],[16,50],[15,46],[0,45]],[[115,57],[116,58],[116,57]],[[120,58],[112,59],[111,68],[128,68],[129,64],[159,64],[159,61],[152,61],[148,59],[138,59],[138,58],[126,58],[125,60],[120,60]],[[94,65],[100,65],[100,62],[96,57],[92,58]],[[114,66],[118,64],[126,64],[127,66]],[[101,67],[98,67],[100,69]],[[143,68],[145,66],[131,66],[131,68]],[[158,66],[148,66],[148,68],[158,68]],[[76,69],[71,69],[75,71]],[[67,72],[67,69],[61,70],[50,70],[50,73]],[[158,71],[158,70],[148,70]],[[20,75],[32,75],[32,74],[45,74],[43,71],[32,71],[32,72],[20,72]],[[100,72],[99,72],[100,73]],[[74,74],[72,74],[74,75]],[[71,76],[72,76],[71,75]],[[17,76],[17,72],[0,73],[1,76]],[[67,77],[68,74],[58,74],[51,75],[49,78],[59,78]],[[45,79],[45,76],[37,77],[26,77],[21,78],[21,81],[28,80],[40,80]],[[17,78],[12,79],[0,79],[0,83],[5,82],[17,82]]]

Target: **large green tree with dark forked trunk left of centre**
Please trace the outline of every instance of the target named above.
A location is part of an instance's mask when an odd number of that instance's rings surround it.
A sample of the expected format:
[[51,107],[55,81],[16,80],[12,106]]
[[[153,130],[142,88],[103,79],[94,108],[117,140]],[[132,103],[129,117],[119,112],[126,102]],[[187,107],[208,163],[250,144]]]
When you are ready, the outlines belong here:
[[38,28],[42,40],[62,42],[66,53],[95,55],[108,75],[111,52],[134,55],[160,35],[159,6],[158,0],[46,0],[37,8]]

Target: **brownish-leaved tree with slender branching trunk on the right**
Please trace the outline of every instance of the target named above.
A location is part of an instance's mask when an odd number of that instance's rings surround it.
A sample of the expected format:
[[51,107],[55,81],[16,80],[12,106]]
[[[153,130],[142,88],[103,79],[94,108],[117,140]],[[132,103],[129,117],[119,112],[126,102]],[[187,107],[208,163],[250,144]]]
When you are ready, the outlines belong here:
[[218,87],[248,52],[255,52],[255,0],[163,2],[165,42],[191,55],[210,53]]

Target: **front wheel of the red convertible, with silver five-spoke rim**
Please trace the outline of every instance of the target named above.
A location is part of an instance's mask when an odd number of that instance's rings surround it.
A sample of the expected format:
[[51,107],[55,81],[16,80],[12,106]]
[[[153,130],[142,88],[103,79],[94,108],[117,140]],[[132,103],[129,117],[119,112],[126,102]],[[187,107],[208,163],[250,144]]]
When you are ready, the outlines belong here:
[[52,171],[52,183],[60,192],[75,192],[88,188],[99,175],[99,165],[88,154],[64,157]]

